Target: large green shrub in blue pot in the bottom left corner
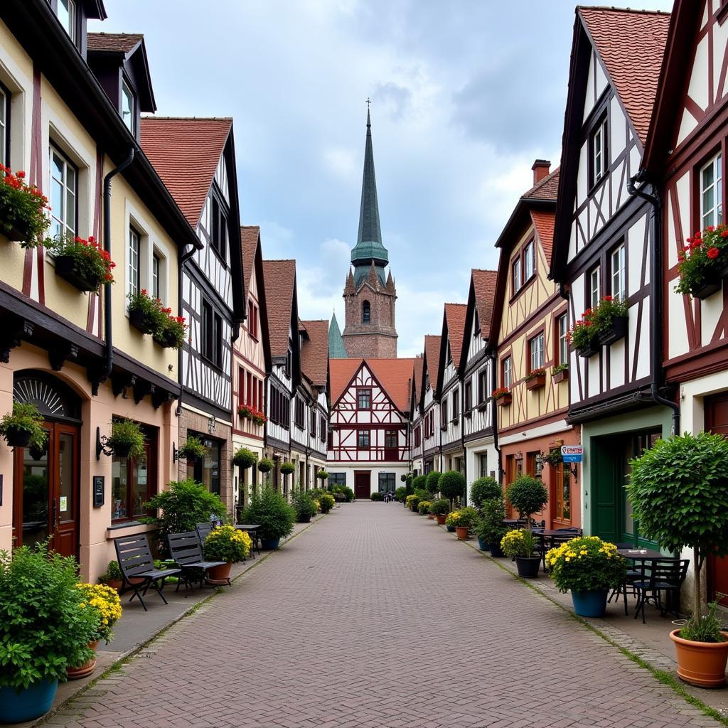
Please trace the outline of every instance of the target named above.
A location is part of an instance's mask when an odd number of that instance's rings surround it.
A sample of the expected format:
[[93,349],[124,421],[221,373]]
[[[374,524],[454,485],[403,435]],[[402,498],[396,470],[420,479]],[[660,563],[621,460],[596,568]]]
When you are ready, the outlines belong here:
[[66,670],[93,657],[92,609],[79,606],[74,558],[47,544],[0,553],[0,716],[8,723],[47,713]]

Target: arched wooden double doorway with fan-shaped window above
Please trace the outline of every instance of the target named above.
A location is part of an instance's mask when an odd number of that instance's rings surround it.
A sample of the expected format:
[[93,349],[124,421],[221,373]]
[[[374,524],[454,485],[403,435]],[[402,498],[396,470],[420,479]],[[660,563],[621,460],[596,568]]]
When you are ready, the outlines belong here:
[[78,556],[81,399],[58,377],[35,370],[15,373],[13,399],[36,405],[48,433],[44,451],[15,448],[14,543],[50,538],[53,550]]

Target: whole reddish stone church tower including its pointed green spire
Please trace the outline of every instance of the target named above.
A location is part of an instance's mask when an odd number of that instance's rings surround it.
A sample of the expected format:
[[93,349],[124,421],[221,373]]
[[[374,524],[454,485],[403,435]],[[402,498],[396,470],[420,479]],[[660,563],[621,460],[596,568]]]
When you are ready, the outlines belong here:
[[346,320],[342,338],[349,357],[397,357],[397,292],[392,271],[385,277],[388,264],[387,248],[381,244],[371,119],[367,110],[359,234],[344,286]]

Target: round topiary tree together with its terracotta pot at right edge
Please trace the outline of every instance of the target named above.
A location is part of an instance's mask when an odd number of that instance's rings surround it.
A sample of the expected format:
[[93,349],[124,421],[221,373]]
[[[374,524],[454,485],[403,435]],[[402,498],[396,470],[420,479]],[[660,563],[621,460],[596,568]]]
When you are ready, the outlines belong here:
[[641,535],[676,552],[692,548],[692,617],[673,630],[678,676],[700,687],[725,683],[728,633],[700,601],[708,555],[728,554],[728,440],[675,435],[630,460],[627,494]]

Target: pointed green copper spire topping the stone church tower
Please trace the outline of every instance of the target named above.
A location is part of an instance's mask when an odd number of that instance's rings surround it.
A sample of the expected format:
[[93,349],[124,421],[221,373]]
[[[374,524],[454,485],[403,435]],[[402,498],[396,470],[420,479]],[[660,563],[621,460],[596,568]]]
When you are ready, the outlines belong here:
[[357,244],[352,250],[354,282],[357,287],[368,275],[372,261],[374,261],[381,283],[384,285],[384,267],[389,263],[389,255],[387,248],[381,244],[379,204],[376,199],[376,176],[374,175],[374,151],[371,144],[371,117],[367,107],[359,233],[357,234]]

